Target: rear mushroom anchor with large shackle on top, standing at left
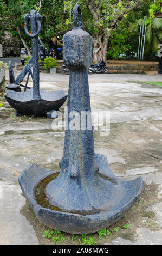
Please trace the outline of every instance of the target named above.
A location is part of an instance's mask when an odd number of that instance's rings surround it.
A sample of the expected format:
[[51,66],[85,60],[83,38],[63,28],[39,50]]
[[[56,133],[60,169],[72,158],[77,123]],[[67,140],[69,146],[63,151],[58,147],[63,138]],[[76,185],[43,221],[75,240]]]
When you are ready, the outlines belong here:
[[[48,92],[46,90],[40,90],[40,74],[39,74],[39,47],[43,47],[38,34],[41,31],[41,15],[36,10],[31,10],[30,16],[26,14],[25,19],[25,32],[30,36],[32,41],[32,54],[33,56],[25,65],[21,74],[15,79],[10,66],[10,84],[7,87],[5,99],[9,102],[10,106],[15,108],[18,113],[22,114],[34,114],[42,115],[51,110],[58,110],[67,99],[67,95],[63,90],[57,92]],[[31,23],[31,34],[28,31],[29,22]],[[38,46],[38,44],[40,44]],[[33,66],[33,73],[31,72],[31,66]],[[21,92],[20,83],[28,74],[33,78],[33,88],[27,89],[27,83],[24,92]],[[17,92],[18,91],[18,92]]]

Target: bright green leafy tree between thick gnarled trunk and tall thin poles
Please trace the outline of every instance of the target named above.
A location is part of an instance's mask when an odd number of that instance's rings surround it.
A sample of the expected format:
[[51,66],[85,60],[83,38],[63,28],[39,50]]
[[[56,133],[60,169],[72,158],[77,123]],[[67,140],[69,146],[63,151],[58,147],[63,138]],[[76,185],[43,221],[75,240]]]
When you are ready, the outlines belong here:
[[151,0],[142,3],[138,8],[132,10],[118,26],[113,30],[108,40],[107,57],[119,58],[119,54],[138,52],[139,44],[139,21],[142,25],[143,17],[150,14]]

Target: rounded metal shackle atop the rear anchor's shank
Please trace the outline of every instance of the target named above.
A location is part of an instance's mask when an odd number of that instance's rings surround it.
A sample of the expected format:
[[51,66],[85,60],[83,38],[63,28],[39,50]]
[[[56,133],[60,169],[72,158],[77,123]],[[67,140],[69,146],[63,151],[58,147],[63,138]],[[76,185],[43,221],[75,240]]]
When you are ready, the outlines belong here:
[[[41,18],[42,16],[37,13],[36,10],[31,10],[30,16],[29,14],[25,14],[25,33],[30,36],[30,38],[36,38],[36,36],[41,32]],[[29,22],[31,22],[31,30],[35,31],[34,34],[30,34],[28,31]]]

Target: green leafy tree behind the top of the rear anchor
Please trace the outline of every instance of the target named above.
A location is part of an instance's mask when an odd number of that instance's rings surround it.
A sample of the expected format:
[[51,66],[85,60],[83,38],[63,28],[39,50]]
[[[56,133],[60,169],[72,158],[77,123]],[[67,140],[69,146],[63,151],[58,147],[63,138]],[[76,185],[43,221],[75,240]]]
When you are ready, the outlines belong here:
[[46,16],[46,39],[48,40],[49,35],[54,34],[54,28],[57,31],[57,24],[61,23],[63,7],[62,0],[1,0],[0,35],[7,30],[12,35],[18,36],[24,47],[27,48],[28,55],[31,56],[31,39],[24,32],[24,15],[30,14],[32,9],[36,9],[41,15]]

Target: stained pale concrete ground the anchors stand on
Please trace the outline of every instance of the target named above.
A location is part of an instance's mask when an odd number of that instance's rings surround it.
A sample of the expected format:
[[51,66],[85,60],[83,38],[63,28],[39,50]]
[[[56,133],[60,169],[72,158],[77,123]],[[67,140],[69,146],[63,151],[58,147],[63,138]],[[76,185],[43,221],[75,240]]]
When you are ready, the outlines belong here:
[[[6,73],[8,79],[8,71]],[[40,87],[68,92],[68,75],[40,74]],[[109,227],[120,227],[99,245],[162,244],[162,87],[144,84],[159,81],[160,75],[89,76],[92,111],[109,111],[110,133],[94,131],[95,152],[105,154],[115,173],[123,180],[144,179],[142,193],[124,218]],[[25,82],[24,82],[25,83]],[[31,81],[29,83],[31,86]],[[44,227],[29,209],[18,185],[18,175],[30,163],[50,170],[59,169],[64,131],[52,129],[61,120],[64,106],[55,120],[43,117],[14,117],[4,102],[0,108],[0,245],[50,244],[42,239]],[[128,229],[122,228],[129,224]],[[63,245],[77,244],[65,234]],[[53,243],[51,243],[53,244]]]

